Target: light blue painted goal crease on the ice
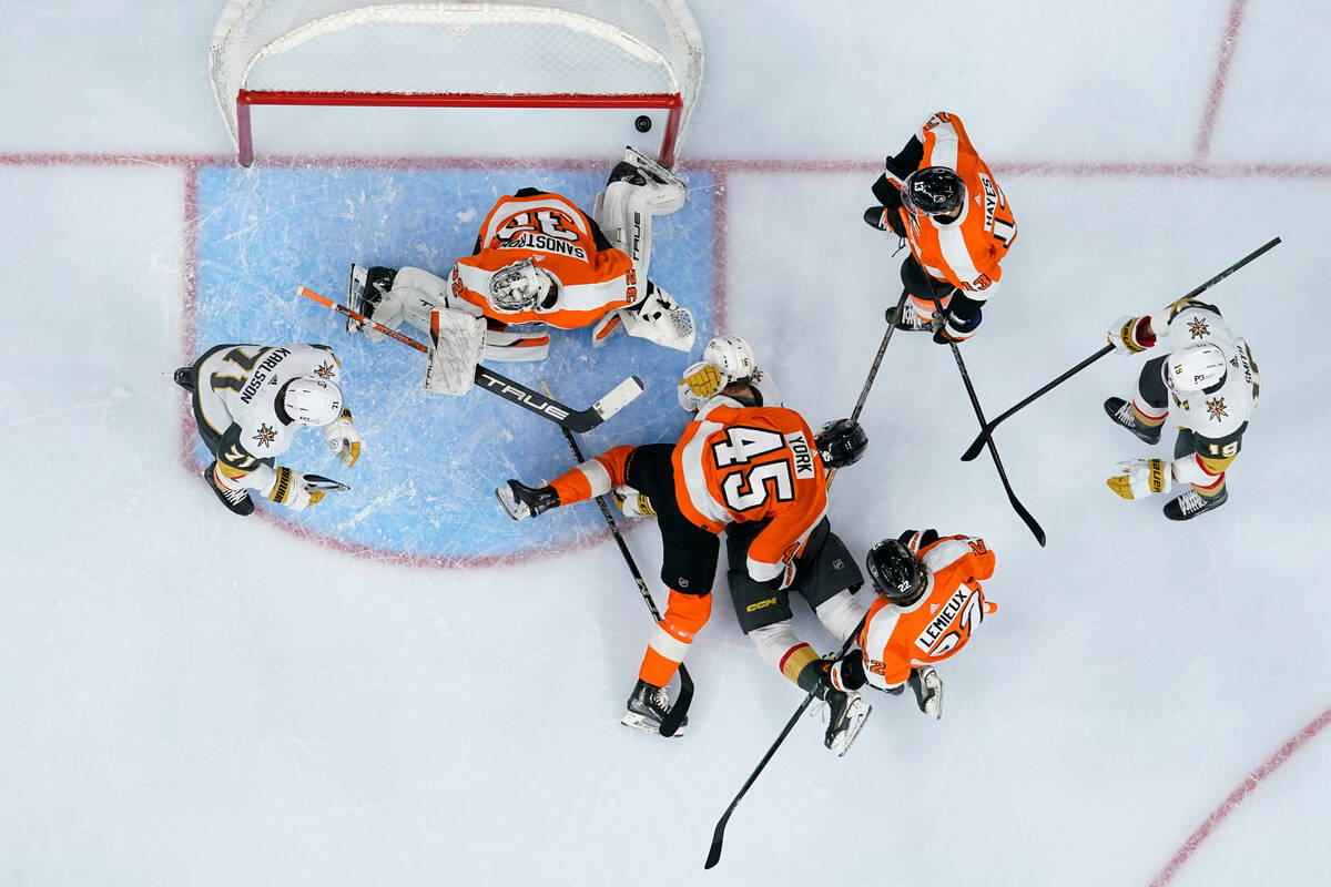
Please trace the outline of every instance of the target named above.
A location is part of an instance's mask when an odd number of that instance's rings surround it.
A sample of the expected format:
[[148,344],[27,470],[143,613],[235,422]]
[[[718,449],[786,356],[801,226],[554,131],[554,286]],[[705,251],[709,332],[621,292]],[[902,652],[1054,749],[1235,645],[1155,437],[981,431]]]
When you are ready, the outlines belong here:
[[[341,302],[353,262],[413,265],[443,277],[458,255],[471,253],[498,195],[538,184],[590,211],[604,174],[200,170],[200,352],[220,342],[331,346],[346,372],[346,403],[365,439],[361,460],[343,468],[319,434],[297,435],[282,464],[337,477],[351,489],[291,513],[293,520],[357,547],[461,560],[520,556],[600,532],[596,508],[563,508],[515,523],[494,497],[495,487],[508,477],[535,484],[572,465],[558,426],[483,391],[465,398],[426,392],[423,355],[393,340],[371,344],[349,336],[342,315],[295,294],[305,285]],[[695,173],[684,207],[652,219],[652,279],[693,311],[699,343],[712,335],[715,318],[713,194],[712,177]],[[592,350],[590,328],[551,334],[546,360],[494,364],[495,370],[530,387],[547,379],[555,398],[576,408],[627,375],[646,384],[638,400],[584,436],[587,456],[615,444],[679,436],[687,415],[676,404],[675,383],[693,355],[624,335]],[[197,452],[201,461],[209,457],[202,444]]]

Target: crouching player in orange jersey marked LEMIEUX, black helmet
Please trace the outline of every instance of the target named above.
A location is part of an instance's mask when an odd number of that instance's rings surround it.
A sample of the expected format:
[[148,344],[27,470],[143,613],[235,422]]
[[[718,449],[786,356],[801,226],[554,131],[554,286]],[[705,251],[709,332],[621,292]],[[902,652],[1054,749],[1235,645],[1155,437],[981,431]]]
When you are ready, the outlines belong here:
[[993,552],[978,537],[906,531],[869,549],[865,568],[878,598],[865,614],[858,649],[832,666],[833,684],[868,684],[893,696],[909,684],[920,710],[942,717],[942,680],[933,666],[998,609],[980,584],[993,576]]

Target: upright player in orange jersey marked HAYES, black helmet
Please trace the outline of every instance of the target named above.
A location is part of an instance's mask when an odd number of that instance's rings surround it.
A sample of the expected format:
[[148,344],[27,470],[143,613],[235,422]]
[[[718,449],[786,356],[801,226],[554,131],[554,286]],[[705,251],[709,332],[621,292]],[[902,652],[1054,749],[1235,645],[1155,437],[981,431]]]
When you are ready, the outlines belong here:
[[[938,343],[974,335],[981,307],[1002,279],[1000,262],[1017,237],[1008,197],[956,114],[929,117],[873,184],[878,206],[864,221],[910,245],[901,263],[909,299],[898,328],[933,330]],[[942,311],[934,311],[934,301]]]

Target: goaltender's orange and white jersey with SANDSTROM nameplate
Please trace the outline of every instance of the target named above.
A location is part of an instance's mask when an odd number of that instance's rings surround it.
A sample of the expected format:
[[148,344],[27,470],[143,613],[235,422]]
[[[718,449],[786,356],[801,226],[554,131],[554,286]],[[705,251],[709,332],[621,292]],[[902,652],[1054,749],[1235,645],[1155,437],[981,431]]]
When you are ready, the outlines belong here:
[[[499,198],[480,229],[479,243],[475,255],[454,263],[449,293],[495,320],[574,330],[638,301],[634,261],[604,239],[602,246],[608,249],[598,249],[592,221],[559,194],[524,189]],[[506,311],[486,298],[490,277],[524,258],[554,275],[556,299],[548,309]]]

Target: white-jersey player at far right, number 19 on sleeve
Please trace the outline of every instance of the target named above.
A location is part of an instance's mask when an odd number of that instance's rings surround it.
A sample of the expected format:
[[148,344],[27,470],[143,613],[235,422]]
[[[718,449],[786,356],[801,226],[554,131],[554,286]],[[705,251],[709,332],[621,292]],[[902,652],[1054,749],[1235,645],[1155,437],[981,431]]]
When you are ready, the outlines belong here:
[[1129,459],[1118,463],[1109,487],[1123,499],[1167,493],[1187,484],[1165,504],[1170,520],[1191,520],[1229,500],[1226,471],[1239,453],[1243,432],[1260,391],[1252,351],[1214,305],[1183,299],[1170,307],[1163,330],[1147,317],[1114,322],[1109,342],[1119,354],[1138,354],[1169,335],[1170,352],[1147,360],[1131,400],[1109,398],[1105,412],[1139,440],[1155,444],[1165,420],[1178,426],[1174,459]]

